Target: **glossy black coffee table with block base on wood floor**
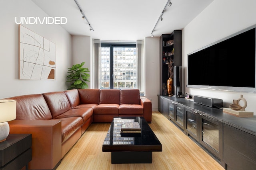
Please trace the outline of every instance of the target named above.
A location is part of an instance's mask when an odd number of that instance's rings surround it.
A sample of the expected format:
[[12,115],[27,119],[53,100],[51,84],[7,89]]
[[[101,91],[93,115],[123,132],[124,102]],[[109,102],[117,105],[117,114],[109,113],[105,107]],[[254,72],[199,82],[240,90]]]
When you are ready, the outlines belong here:
[[[141,133],[121,133],[122,122],[137,121]],[[111,152],[112,164],[152,163],[152,152],[161,152],[162,144],[143,117],[114,117],[102,145]]]

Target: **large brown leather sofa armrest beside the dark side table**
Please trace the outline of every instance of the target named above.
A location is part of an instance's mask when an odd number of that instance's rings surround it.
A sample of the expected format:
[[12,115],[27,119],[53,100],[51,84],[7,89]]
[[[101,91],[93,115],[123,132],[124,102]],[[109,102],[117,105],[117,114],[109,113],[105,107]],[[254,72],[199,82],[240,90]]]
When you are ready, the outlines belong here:
[[53,169],[60,163],[61,121],[13,120],[8,122],[11,134],[32,134],[32,160],[29,169]]

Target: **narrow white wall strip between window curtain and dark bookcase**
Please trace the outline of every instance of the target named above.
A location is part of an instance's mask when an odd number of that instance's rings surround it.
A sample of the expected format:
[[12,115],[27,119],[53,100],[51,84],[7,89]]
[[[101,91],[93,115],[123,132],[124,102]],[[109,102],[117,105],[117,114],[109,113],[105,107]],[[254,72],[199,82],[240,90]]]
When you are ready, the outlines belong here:
[[158,111],[159,37],[145,38],[145,96],[152,100],[152,110]]

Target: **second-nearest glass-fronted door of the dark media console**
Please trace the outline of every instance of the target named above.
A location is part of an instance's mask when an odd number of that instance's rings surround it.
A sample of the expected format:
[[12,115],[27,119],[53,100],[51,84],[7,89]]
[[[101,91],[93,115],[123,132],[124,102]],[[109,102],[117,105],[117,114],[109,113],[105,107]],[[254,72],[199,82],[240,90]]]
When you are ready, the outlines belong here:
[[199,114],[190,109],[185,110],[187,135],[199,142]]

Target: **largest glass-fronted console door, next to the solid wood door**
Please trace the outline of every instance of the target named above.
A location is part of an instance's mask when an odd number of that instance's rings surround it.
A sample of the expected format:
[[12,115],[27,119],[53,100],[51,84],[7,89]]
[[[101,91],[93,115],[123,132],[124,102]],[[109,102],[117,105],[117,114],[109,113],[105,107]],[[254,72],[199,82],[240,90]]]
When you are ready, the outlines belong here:
[[199,114],[199,143],[212,155],[223,160],[223,123]]

